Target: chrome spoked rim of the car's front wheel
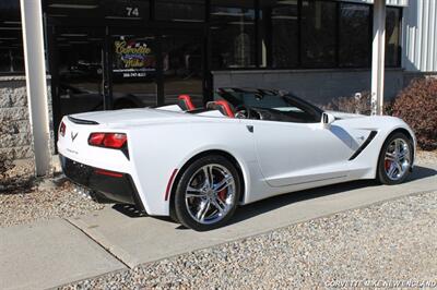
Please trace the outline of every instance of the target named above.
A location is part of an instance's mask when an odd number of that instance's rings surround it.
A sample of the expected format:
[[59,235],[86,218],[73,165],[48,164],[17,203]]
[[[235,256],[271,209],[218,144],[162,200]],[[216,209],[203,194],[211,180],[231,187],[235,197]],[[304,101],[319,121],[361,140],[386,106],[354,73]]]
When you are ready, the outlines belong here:
[[403,138],[393,140],[387,147],[383,168],[390,180],[402,179],[410,169],[411,154],[410,145]]

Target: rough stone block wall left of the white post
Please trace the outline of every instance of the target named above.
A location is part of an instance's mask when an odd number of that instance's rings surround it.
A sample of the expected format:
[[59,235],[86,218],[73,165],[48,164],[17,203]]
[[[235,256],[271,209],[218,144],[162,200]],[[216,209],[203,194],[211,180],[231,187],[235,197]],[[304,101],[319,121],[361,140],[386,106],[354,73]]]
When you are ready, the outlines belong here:
[[25,76],[0,76],[0,154],[8,159],[34,157]]

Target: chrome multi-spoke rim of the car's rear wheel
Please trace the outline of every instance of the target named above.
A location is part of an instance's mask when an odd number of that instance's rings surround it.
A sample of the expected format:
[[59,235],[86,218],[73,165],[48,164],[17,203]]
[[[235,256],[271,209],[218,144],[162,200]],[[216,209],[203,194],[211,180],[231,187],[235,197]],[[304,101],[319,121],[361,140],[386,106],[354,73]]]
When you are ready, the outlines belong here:
[[185,193],[186,207],[197,222],[215,223],[235,203],[235,180],[231,171],[217,164],[205,165],[192,174]]

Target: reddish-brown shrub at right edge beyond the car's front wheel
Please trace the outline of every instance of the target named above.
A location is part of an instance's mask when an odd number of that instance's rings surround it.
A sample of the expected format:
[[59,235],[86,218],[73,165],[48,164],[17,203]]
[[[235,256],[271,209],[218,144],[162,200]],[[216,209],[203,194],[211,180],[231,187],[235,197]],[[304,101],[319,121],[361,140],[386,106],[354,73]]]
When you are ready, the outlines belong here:
[[437,78],[417,78],[399,93],[392,114],[414,131],[422,149],[437,149]]

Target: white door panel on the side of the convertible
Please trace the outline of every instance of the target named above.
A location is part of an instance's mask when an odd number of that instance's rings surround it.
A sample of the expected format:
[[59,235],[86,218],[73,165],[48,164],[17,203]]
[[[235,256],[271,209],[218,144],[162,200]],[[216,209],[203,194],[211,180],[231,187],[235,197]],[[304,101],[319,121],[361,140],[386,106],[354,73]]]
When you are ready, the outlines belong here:
[[340,126],[251,121],[261,171],[271,186],[347,177],[352,138]]

